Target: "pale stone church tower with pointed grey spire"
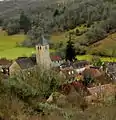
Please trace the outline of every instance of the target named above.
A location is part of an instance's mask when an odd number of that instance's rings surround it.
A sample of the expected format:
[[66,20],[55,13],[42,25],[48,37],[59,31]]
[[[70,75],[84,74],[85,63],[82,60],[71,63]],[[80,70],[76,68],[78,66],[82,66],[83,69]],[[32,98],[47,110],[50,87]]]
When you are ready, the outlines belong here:
[[51,66],[49,44],[43,36],[40,39],[39,44],[36,45],[36,61],[37,65],[44,69],[49,69]]

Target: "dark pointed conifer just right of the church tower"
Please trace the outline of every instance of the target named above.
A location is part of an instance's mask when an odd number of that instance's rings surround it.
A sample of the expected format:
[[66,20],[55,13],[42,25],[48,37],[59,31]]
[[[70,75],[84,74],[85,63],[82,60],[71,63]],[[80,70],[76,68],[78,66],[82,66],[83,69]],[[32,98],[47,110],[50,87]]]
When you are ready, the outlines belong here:
[[76,52],[73,44],[74,43],[71,40],[71,34],[69,34],[69,41],[67,42],[67,47],[66,47],[66,56],[65,56],[66,60],[69,61],[75,60]]

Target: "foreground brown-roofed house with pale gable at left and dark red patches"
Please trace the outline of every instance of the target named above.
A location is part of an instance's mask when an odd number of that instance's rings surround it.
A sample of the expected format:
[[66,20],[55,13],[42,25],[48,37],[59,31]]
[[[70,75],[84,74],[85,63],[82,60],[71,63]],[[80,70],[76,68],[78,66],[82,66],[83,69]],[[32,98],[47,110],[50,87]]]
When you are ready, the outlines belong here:
[[57,92],[52,93],[46,102],[59,104],[60,106],[71,103],[73,105],[79,105],[80,94],[79,89],[84,90],[83,84],[77,81],[63,84],[59,87]]

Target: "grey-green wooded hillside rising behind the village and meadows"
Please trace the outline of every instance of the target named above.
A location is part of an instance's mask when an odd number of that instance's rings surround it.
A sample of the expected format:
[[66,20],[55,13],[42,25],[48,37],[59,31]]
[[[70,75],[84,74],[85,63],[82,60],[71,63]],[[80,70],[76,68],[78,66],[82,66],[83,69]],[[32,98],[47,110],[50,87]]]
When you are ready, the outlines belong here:
[[[31,22],[31,28],[28,33],[26,31],[28,39],[23,43],[24,46],[34,46],[41,34],[54,36],[54,33],[60,33],[59,36],[63,35],[65,39],[57,39],[55,43],[53,39],[51,44],[52,49],[58,49],[59,44],[62,44],[60,46],[62,48],[68,39],[66,36],[70,33],[74,39],[77,54],[116,56],[114,52],[116,44],[112,48],[111,45],[107,45],[107,48],[104,47],[102,51],[97,52],[94,49],[91,52],[89,49],[91,45],[115,33],[115,0],[11,0],[1,2],[1,22],[3,26],[6,25],[10,34],[19,32],[20,25],[17,21],[20,21],[21,11],[24,11]],[[8,17],[10,20],[7,19]],[[114,43],[116,43],[115,40]],[[107,52],[109,48],[110,52]]]

